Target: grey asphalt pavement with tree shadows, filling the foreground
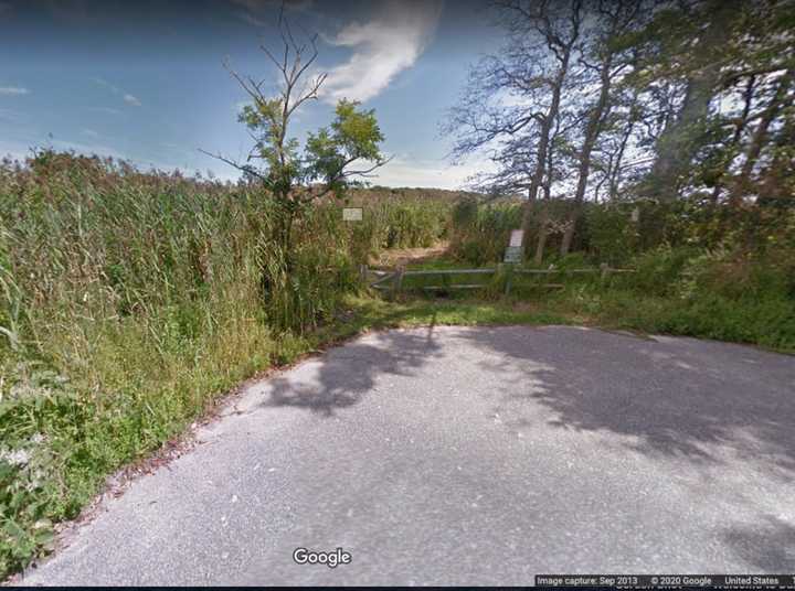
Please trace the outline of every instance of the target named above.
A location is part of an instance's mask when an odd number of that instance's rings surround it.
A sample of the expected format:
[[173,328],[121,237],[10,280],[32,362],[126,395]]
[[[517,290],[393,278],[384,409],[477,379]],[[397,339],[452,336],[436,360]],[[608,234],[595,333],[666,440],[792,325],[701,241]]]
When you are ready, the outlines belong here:
[[[576,327],[370,334],[251,386],[23,584],[795,572],[795,357]],[[299,566],[298,547],[351,554]]]

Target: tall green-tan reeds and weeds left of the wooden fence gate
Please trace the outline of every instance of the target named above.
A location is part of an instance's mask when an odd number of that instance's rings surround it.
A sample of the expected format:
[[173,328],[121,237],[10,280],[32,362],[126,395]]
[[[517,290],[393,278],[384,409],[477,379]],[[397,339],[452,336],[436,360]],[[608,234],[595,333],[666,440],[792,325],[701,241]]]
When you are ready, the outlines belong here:
[[49,151],[0,166],[0,572],[213,396],[316,346],[368,256],[447,229],[441,202],[364,205],[308,212],[287,277],[248,185]]

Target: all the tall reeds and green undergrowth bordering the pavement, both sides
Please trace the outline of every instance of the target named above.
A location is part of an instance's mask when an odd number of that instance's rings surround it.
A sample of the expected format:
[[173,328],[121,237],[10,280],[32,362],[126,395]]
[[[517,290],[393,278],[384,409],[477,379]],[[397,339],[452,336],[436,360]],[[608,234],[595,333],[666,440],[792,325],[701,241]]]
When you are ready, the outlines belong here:
[[390,303],[362,292],[359,264],[443,238],[446,258],[425,267],[495,264],[521,204],[362,193],[350,195],[361,223],[328,200],[300,219],[288,278],[273,205],[246,183],[49,151],[0,169],[3,571],[46,551],[53,523],[220,393],[365,327],[576,322],[795,351],[792,209],[593,205],[580,250],[560,258],[551,235],[544,266],[637,273]]

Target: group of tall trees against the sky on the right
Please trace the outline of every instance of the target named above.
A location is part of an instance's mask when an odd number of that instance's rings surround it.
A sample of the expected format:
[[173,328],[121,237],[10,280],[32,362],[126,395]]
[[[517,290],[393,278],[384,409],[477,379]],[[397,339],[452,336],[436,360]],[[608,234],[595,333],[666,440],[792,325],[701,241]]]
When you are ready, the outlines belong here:
[[550,234],[562,255],[589,240],[590,202],[795,200],[792,0],[498,0],[492,17],[504,44],[444,130],[457,158],[494,160],[476,186],[528,197],[537,262]]

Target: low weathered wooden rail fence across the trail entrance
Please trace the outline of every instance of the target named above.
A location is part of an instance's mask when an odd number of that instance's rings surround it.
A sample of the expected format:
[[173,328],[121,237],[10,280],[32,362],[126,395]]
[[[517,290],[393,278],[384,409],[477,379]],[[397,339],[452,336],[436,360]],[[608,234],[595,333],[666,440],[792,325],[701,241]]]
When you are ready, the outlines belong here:
[[[362,265],[360,273],[362,279],[368,281],[369,286],[373,289],[386,291],[393,297],[398,296],[404,290],[403,280],[406,277],[441,277],[456,276],[456,275],[470,275],[470,276],[494,276],[497,272],[504,272],[506,276],[505,293],[510,293],[512,278],[515,275],[533,275],[533,276],[565,276],[565,275],[579,275],[579,273],[598,273],[601,281],[606,281],[613,273],[633,273],[635,269],[615,269],[607,264],[600,265],[598,269],[521,269],[513,265],[500,264],[494,268],[486,269],[423,269],[416,271],[409,271],[404,267],[398,267],[396,269],[381,270],[370,269],[367,265]],[[422,289],[424,291],[442,291],[449,289],[484,289],[488,287],[488,283],[447,283],[439,286],[420,286],[414,289]],[[542,283],[542,287],[560,289],[563,288],[562,283]]]

